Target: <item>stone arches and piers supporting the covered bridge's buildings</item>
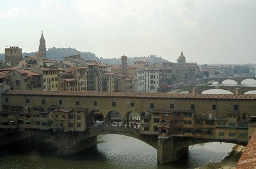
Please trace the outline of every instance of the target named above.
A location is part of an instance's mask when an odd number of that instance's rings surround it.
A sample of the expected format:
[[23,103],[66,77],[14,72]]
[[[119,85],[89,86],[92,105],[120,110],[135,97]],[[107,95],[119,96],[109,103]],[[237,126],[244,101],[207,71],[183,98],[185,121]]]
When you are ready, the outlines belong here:
[[198,143],[227,142],[244,146],[247,144],[246,142],[238,143],[230,140],[200,139],[186,136],[172,136],[166,139],[159,138],[158,135],[143,135],[140,133],[140,129],[136,128],[106,126],[92,126],[88,128],[87,132],[51,133],[51,136],[52,139],[58,143],[59,156],[65,156],[97,145],[97,136],[107,134],[131,136],[132,138],[147,143],[157,150],[157,161],[161,164],[176,161],[181,156],[188,153],[190,145]]

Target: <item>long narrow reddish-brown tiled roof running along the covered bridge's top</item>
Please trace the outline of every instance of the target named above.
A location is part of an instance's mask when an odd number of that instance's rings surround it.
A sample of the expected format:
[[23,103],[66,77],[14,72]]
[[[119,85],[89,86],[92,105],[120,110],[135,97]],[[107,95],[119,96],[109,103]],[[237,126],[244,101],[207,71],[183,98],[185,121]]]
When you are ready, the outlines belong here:
[[170,98],[170,99],[256,99],[256,94],[179,94],[179,93],[148,93],[148,92],[81,92],[81,91],[6,91],[10,95],[40,96],[87,96],[102,98]]

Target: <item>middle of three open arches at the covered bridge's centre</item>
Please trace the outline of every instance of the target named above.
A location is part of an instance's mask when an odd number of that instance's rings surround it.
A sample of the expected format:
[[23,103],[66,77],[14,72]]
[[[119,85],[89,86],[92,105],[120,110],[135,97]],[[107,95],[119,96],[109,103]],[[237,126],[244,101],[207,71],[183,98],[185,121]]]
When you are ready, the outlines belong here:
[[123,118],[120,112],[117,112],[116,110],[108,112],[108,114],[106,114],[106,126],[122,127]]

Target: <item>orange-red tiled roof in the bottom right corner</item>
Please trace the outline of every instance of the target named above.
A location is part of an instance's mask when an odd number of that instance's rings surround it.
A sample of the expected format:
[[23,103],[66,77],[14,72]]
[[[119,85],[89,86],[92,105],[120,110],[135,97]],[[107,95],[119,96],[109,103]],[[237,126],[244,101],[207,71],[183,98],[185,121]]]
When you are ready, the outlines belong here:
[[237,169],[251,169],[256,168],[256,129],[253,132],[241,158],[239,159]]

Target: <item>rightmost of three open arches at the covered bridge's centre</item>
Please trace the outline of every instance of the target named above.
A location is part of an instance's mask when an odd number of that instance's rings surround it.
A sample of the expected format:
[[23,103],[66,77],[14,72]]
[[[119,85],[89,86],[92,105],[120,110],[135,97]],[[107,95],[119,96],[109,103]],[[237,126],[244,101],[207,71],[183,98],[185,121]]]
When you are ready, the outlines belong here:
[[140,117],[138,112],[131,111],[125,115],[125,127],[126,128],[140,128]]

